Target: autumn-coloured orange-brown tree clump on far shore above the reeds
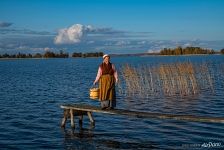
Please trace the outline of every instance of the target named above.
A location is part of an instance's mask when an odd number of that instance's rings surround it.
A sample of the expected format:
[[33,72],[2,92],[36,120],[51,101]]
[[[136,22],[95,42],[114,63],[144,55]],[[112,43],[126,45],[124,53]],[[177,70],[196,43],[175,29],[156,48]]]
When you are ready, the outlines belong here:
[[160,55],[187,55],[187,54],[215,54],[212,49],[204,49],[200,47],[177,47],[174,49],[164,48],[160,51]]

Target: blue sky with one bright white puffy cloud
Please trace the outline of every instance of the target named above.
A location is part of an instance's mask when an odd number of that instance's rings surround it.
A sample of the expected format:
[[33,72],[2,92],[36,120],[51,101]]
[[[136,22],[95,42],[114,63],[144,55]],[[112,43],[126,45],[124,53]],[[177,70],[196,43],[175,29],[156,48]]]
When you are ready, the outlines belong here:
[[223,0],[1,0],[0,53],[224,48]]

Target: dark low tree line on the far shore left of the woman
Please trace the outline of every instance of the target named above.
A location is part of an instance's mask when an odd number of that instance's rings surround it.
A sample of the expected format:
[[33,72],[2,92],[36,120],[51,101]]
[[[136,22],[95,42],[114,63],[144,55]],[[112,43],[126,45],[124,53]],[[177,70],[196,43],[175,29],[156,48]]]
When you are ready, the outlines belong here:
[[[73,53],[72,57],[101,57],[103,56],[103,52],[95,52],[95,53]],[[44,54],[36,53],[36,54],[0,54],[0,58],[68,58],[69,54],[60,51],[59,53],[54,53],[51,51],[46,51]]]

